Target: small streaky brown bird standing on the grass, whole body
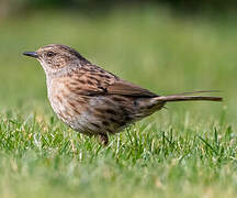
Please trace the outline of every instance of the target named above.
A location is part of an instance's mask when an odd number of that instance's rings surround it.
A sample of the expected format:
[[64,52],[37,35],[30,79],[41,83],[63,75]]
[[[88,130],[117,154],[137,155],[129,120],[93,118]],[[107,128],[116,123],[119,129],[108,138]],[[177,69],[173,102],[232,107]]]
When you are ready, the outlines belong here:
[[108,134],[153,114],[166,102],[222,101],[221,97],[158,96],[91,64],[61,44],[23,54],[41,63],[46,74],[48,99],[57,117],[78,132],[98,135],[103,144],[109,142]]

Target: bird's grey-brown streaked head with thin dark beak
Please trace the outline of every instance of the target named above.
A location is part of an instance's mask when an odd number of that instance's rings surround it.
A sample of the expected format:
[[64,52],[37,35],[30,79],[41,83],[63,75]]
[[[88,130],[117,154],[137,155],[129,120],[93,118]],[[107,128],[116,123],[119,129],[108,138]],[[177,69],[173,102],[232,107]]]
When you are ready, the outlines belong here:
[[89,63],[77,51],[61,44],[46,45],[35,52],[25,52],[23,55],[36,58],[46,75],[65,73]]

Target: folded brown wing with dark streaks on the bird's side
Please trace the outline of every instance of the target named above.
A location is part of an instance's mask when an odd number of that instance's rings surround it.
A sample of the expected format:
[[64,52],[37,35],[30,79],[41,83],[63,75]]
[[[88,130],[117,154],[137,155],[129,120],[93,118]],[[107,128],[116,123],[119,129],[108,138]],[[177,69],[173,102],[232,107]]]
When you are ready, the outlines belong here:
[[121,95],[131,97],[157,97],[156,94],[136,86],[129,81],[122,80],[106,70],[89,65],[79,74],[70,77],[70,86],[77,87],[78,95]]

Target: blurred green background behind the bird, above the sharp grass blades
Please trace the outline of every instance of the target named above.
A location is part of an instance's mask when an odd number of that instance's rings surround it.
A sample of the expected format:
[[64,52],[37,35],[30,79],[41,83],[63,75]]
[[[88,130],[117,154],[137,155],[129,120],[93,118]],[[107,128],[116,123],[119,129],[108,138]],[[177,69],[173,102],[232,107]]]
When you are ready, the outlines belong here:
[[[222,90],[229,119],[236,117],[234,8],[226,2],[219,11],[214,1],[201,1],[191,13],[193,3],[184,2],[1,1],[1,109],[46,106],[43,70],[22,52],[61,43],[159,95]],[[221,109],[208,102],[192,107]]]

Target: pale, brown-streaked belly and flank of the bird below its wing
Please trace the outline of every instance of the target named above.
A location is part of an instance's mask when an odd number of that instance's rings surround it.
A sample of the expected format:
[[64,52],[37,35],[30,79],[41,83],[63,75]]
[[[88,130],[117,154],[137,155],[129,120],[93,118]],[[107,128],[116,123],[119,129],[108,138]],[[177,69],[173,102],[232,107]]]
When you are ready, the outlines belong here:
[[89,135],[120,132],[158,109],[156,105],[149,109],[147,101],[134,102],[134,99],[121,96],[64,96],[49,100],[60,120]]

